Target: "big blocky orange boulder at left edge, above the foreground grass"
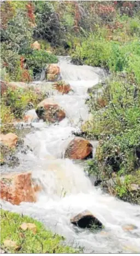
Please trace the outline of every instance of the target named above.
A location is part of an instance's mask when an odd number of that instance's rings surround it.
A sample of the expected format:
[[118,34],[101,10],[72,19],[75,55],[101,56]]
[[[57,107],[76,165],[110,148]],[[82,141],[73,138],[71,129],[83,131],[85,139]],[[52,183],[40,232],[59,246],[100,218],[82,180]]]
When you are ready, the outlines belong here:
[[36,202],[36,185],[33,185],[31,173],[11,173],[1,175],[1,199],[12,204]]

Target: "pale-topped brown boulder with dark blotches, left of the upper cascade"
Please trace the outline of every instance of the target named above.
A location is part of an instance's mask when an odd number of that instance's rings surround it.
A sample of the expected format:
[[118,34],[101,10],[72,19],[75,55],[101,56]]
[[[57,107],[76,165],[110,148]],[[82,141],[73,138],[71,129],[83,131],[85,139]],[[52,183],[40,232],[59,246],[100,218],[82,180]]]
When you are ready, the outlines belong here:
[[36,113],[40,119],[51,123],[60,122],[65,118],[65,112],[53,99],[45,99],[38,104]]

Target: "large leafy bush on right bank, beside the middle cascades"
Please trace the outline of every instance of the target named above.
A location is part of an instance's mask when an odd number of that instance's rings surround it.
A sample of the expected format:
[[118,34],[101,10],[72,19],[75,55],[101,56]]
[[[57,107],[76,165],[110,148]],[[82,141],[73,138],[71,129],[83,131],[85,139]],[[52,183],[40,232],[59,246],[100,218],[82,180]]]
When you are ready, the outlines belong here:
[[[135,177],[135,170],[140,167],[139,84],[131,73],[128,77],[126,74],[113,76],[107,81],[102,98],[106,99],[107,105],[100,107],[100,110],[97,109],[97,99],[94,95],[91,94],[87,101],[93,121],[86,124],[85,131],[100,140],[96,157],[90,161],[88,171],[102,180],[110,179],[115,172],[117,178],[112,187],[114,194],[135,202],[133,193],[130,194],[127,190],[127,198],[126,194],[121,196],[118,191],[121,190],[121,185],[126,183],[120,182],[119,177],[125,177],[125,181],[127,175]],[[136,184],[138,182],[139,180]],[[131,183],[132,180],[129,184]]]

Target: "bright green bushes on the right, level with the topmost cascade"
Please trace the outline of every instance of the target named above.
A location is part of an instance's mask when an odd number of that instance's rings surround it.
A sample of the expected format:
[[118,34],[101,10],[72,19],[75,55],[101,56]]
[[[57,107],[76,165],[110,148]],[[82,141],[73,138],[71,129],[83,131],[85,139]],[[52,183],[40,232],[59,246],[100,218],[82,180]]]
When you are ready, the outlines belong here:
[[[106,67],[110,71],[134,72],[138,82],[140,81],[138,72],[139,41],[124,44],[91,35],[83,41],[81,47],[77,46],[72,59],[77,64]],[[133,61],[135,61],[135,65],[133,65]]]

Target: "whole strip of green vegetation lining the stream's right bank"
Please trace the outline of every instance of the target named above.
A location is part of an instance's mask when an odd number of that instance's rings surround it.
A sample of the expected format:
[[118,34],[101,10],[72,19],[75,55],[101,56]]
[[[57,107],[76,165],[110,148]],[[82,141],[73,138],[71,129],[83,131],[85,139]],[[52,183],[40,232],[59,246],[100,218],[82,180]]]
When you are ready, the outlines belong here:
[[[83,44],[81,51],[88,43]],[[113,51],[110,45],[116,50]],[[92,120],[84,124],[83,132],[100,140],[95,159],[89,161],[88,172],[102,180],[113,195],[133,203],[140,203],[139,187],[131,190],[134,182],[139,185],[139,46],[135,38],[122,45],[108,41],[103,43],[101,39],[99,44],[94,41],[90,47],[88,45],[93,55],[89,53],[89,57],[84,59],[85,64],[108,67],[112,71],[106,84],[98,84],[86,100]],[[95,51],[92,50],[94,47]],[[107,182],[109,179],[113,180],[111,185]]]

